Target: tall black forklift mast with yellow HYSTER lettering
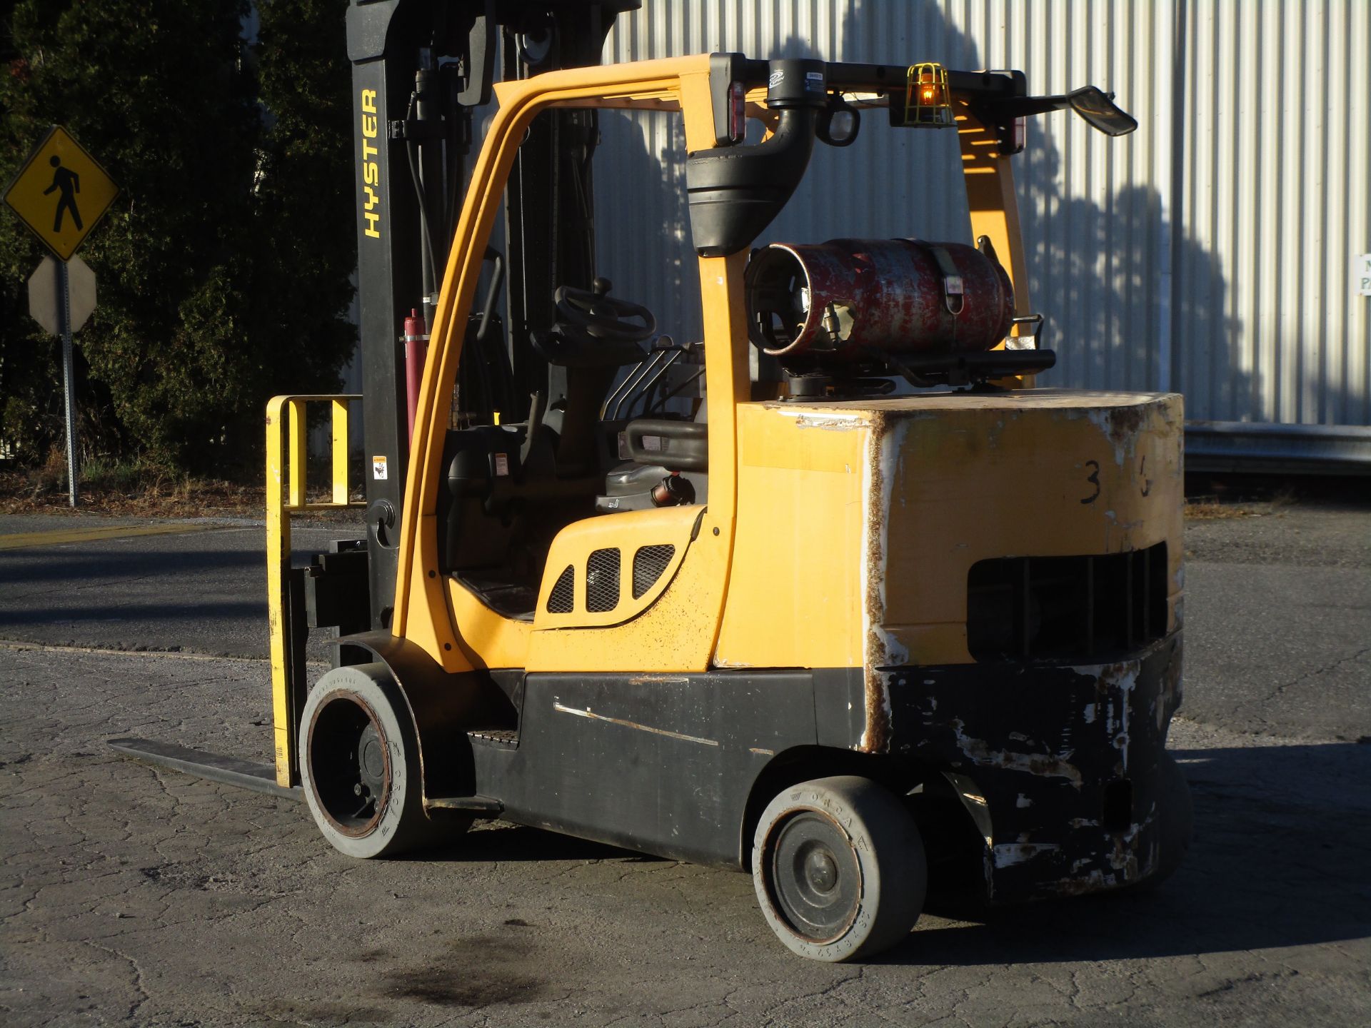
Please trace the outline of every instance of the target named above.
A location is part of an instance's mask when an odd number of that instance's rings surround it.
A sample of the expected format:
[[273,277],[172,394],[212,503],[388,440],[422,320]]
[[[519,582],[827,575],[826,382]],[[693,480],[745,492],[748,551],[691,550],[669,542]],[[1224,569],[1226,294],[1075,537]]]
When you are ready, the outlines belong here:
[[[640,1],[351,0],[373,629],[391,626],[409,467],[403,325],[411,310],[425,325],[433,322],[477,112],[496,78],[598,64],[614,18]],[[568,392],[566,370],[550,369],[529,340],[554,322],[554,286],[588,289],[595,277],[590,155],[596,134],[592,112],[548,112],[532,125],[510,175],[505,254],[487,254],[494,286],[500,277],[505,282],[503,345],[513,376],[506,389],[513,408],[500,411],[506,421],[526,417],[533,395],[555,402]]]

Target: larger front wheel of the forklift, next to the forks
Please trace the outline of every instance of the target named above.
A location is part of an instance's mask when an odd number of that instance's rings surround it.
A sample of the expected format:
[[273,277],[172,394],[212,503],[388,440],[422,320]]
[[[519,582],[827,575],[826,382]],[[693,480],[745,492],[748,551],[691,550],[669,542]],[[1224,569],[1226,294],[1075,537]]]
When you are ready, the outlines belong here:
[[315,824],[348,857],[393,857],[441,833],[424,813],[414,724],[384,665],[319,678],[300,718],[300,768]]

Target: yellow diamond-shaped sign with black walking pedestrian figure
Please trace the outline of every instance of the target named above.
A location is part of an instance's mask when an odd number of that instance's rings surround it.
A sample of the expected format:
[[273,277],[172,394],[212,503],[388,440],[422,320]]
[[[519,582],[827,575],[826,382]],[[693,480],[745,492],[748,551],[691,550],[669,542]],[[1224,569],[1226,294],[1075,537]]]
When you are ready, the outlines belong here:
[[53,125],[5,186],[4,201],[59,260],[70,260],[118,195],[95,158]]

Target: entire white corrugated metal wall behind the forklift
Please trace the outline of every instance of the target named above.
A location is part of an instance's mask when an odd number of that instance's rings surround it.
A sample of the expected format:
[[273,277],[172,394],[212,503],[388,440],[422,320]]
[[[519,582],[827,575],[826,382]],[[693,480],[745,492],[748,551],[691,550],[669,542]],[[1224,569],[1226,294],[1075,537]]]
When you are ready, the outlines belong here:
[[[1371,300],[1350,282],[1371,251],[1371,3],[646,0],[605,59],[724,49],[1116,90],[1135,134],[1039,117],[1017,166],[1032,302],[1058,354],[1046,381],[1182,389],[1198,419],[1371,422]],[[871,122],[847,151],[816,148],[765,240],[967,238],[953,134]],[[606,112],[602,132],[600,271],[691,337],[680,126]]]

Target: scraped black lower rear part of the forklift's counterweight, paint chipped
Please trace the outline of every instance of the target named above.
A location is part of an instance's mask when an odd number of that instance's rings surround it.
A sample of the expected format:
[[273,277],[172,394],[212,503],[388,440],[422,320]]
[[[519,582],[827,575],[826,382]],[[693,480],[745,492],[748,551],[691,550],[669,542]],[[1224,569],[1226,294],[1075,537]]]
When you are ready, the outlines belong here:
[[947,776],[986,837],[986,898],[1075,895],[1158,869],[1180,635],[1102,665],[882,669],[888,752]]

